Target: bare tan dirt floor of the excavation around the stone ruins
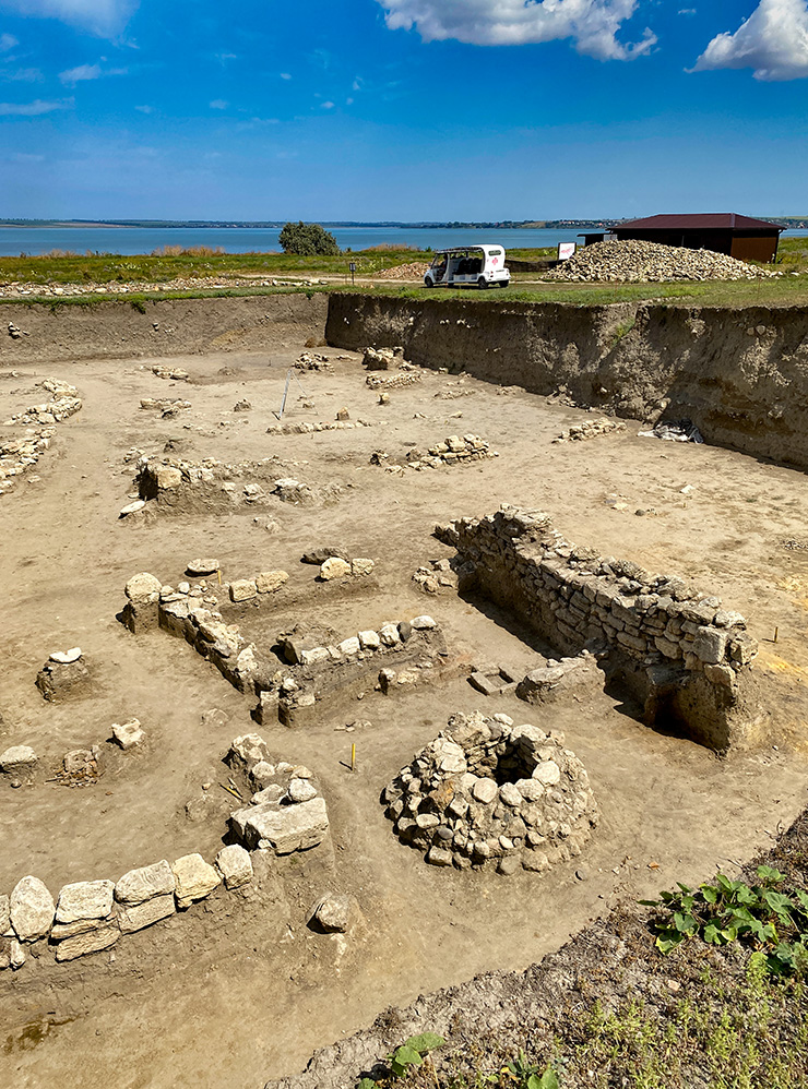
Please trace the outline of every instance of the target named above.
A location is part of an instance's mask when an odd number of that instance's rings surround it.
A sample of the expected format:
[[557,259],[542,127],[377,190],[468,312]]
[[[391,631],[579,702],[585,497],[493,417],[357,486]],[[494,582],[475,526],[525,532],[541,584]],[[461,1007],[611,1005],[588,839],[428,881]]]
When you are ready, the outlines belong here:
[[[245,631],[266,632],[268,643],[269,633],[296,621],[324,621],[347,636],[428,612],[452,654],[527,670],[539,648],[508,617],[453,593],[425,595],[412,574],[450,554],[431,537],[436,522],[489,513],[503,501],[538,507],[569,539],[687,575],[748,618],[762,641],[757,670],[770,701],[771,744],[722,761],[642,727],[606,694],[533,708],[514,696],[486,698],[462,678],[393,697],[368,692],[349,716],[325,706],[301,730],[264,726],[278,757],[320,777],[330,842],[278,864],[273,897],[248,898],[242,910],[213,898],[175,920],[181,925],[157,934],[158,923],[123,938],[114,955],[3,972],[0,1042],[10,1085],[252,1089],[299,1069],[313,1050],[387,1005],[480,971],[526,967],[619,897],[702,878],[716,864],[732,872],[806,803],[808,548],[784,546],[808,546],[803,474],[706,445],[639,438],[632,426],[554,445],[586,414],[431,371],[380,406],[359,358],[337,360],[334,349],[322,349],[332,372],[299,374],[314,407],[301,407],[293,382],[286,419],[331,420],[346,407],[353,420],[373,426],[270,436],[287,367],[301,349],[302,340],[293,351],[280,346],[271,364],[263,352],[236,350],[173,357],[169,366],[186,368],[189,382],[161,380],[151,371],[159,359],[140,358],[43,359],[17,364],[16,376],[0,372],[3,419],[44,399],[35,383],[46,376],[73,383],[84,398],[82,411],[59,424],[51,450],[0,499],[0,746],[31,744],[56,767],[68,750],[97,743],[105,768],[84,789],[39,782],[12,790],[0,780],[0,889],[10,891],[27,873],[55,891],[69,881],[117,879],[159,858],[215,852],[233,807],[218,787],[226,781],[221,759],[233,737],[254,729],[256,701],[183,642],[163,632],[134,637],[116,620],[133,573],[176,585],[197,555],[218,557],[226,579],[289,573],[260,615],[240,607]],[[192,407],[162,419],[139,407],[141,397],[181,397]],[[234,412],[245,397],[252,409]],[[467,432],[500,456],[403,477],[369,464],[376,450],[401,460],[413,444]],[[288,463],[286,475],[344,492],[328,506],[272,500],[260,508],[161,510],[146,523],[119,520],[134,498],[134,462],[124,456],[133,448],[159,454],[169,441],[190,459],[274,455]],[[272,532],[253,520],[266,514],[276,523]],[[300,555],[322,543],[371,557],[373,575],[349,593],[318,583]],[[91,694],[45,703],[34,687],[37,670],[50,651],[76,645],[93,669]],[[203,725],[211,708],[228,720]],[[439,871],[393,836],[381,788],[449,715],[474,708],[565,731],[602,812],[575,862],[540,877]],[[106,742],[110,725],[132,716],[147,745],[117,754]],[[350,734],[337,729],[353,719],[370,725]],[[352,742],[353,774],[345,766]],[[203,792],[203,782],[213,786]],[[186,803],[203,794],[209,804],[189,819]],[[347,942],[306,926],[325,888],[354,893],[361,905],[367,925]]]

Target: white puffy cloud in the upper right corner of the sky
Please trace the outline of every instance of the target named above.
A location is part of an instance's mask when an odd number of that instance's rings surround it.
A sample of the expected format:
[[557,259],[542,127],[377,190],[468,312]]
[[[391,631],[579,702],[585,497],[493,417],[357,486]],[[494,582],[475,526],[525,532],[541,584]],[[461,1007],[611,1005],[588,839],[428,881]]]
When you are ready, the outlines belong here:
[[692,72],[751,68],[756,80],[808,76],[808,0],[760,0],[735,34],[717,34]]

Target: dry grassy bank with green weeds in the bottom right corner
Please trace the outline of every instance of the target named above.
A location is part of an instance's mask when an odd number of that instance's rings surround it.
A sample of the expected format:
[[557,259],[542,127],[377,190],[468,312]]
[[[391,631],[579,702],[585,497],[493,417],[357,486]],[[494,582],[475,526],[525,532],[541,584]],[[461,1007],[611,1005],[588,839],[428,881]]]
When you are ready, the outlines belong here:
[[[808,920],[799,899],[808,905],[806,813],[757,862],[764,863],[763,874],[756,863],[741,879],[727,879],[726,898],[711,909],[726,907],[723,918],[733,920],[722,923],[728,929],[718,937],[680,916],[676,925],[689,936],[664,955],[657,947],[665,945],[655,925],[658,911],[618,909],[546,965],[514,974],[512,986],[497,992],[510,992],[508,1005],[499,1003],[490,1015],[485,978],[471,997],[459,989],[448,1039],[423,1065],[394,1079],[382,1060],[373,1077],[356,1084],[363,1089],[806,1089],[808,935],[799,936]],[[774,867],[769,876],[767,866]],[[702,888],[712,903],[716,885]],[[750,912],[768,919],[773,934],[749,926],[744,920]],[[788,943],[796,956],[784,967],[777,954]],[[487,1016],[496,1028],[485,1028]]]

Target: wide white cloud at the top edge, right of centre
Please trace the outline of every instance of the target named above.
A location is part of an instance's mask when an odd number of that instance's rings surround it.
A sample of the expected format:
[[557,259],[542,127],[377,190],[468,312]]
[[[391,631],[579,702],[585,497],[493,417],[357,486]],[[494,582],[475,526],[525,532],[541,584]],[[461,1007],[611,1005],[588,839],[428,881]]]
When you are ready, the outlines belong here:
[[647,53],[656,35],[617,39],[638,0],[378,0],[391,31],[417,28],[425,41],[455,38],[476,46],[518,46],[572,38],[580,53],[631,60]]

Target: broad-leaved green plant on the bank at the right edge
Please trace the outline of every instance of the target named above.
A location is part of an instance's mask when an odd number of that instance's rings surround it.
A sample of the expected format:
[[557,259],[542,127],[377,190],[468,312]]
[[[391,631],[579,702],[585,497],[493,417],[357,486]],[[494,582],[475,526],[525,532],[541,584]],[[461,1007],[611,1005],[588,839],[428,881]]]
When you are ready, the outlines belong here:
[[657,949],[668,954],[696,936],[717,946],[745,940],[765,953],[769,971],[787,974],[799,969],[808,959],[808,893],[780,889],[786,875],[771,866],[758,866],[757,874],[757,885],[720,873],[712,885],[692,889],[677,882],[678,891],[641,900],[657,909]]

